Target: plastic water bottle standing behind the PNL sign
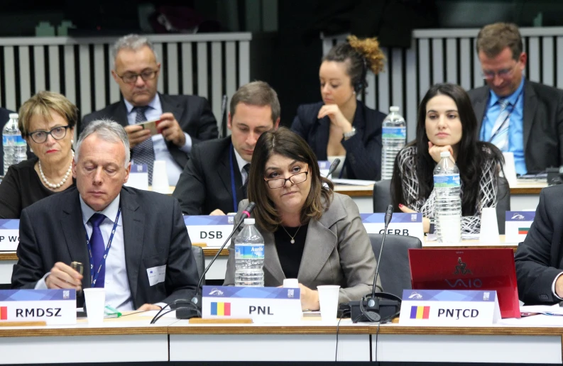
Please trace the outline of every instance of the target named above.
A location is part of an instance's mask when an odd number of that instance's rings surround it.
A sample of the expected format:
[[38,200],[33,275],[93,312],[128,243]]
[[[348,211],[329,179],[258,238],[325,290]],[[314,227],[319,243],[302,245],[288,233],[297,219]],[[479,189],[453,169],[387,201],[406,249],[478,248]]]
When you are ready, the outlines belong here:
[[244,228],[234,239],[235,286],[264,287],[264,238],[253,218],[244,219]]

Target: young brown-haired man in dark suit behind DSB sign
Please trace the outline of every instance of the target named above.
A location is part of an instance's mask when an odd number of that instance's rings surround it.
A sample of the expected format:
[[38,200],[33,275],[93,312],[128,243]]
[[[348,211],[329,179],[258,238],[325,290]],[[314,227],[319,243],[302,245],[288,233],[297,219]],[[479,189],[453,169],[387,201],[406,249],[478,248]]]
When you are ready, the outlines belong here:
[[188,215],[236,212],[246,198],[246,179],[256,140],[280,123],[278,95],[266,82],[251,82],[231,98],[231,135],[192,149],[173,196]]

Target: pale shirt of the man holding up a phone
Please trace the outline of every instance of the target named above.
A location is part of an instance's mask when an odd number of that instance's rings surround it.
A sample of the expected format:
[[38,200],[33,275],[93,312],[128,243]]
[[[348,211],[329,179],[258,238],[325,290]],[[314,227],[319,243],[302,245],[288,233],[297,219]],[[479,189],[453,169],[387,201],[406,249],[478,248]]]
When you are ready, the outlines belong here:
[[[127,108],[127,121],[130,125],[136,124],[137,112],[133,111],[133,105],[124,99],[125,106]],[[160,97],[158,94],[155,95],[154,99],[151,103],[148,104],[148,109],[145,111],[145,117],[147,121],[154,121],[160,118],[163,114],[163,107],[160,104]],[[184,133],[186,142],[184,146],[180,148],[184,153],[189,154],[192,150],[192,138],[187,133]],[[175,186],[180,178],[180,174],[182,174],[182,167],[177,164],[176,160],[170,151],[168,151],[168,147],[166,146],[166,141],[163,138],[163,135],[158,133],[158,135],[154,135],[151,137],[153,139],[153,150],[155,152],[155,160],[164,160],[166,162],[166,171],[168,172],[168,184],[171,186]],[[135,164],[135,157],[133,156],[133,164]]]

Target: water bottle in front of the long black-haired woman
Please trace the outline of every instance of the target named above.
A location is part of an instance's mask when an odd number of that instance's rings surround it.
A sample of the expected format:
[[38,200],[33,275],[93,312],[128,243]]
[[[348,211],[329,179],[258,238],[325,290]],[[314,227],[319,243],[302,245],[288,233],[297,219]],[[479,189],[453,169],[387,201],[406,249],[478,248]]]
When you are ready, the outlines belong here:
[[434,228],[439,243],[461,242],[461,181],[459,169],[450,159],[449,151],[440,153],[434,168]]

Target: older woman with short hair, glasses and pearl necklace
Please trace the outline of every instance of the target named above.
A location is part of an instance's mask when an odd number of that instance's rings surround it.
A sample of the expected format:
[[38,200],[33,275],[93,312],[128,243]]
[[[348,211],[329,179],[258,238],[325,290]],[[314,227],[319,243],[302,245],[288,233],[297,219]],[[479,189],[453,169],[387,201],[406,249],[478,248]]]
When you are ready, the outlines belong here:
[[40,91],[21,106],[19,129],[36,157],[9,167],[0,184],[0,218],[20,218],[27,206],[75,185],[77,119],[77,107],[52,91]]

